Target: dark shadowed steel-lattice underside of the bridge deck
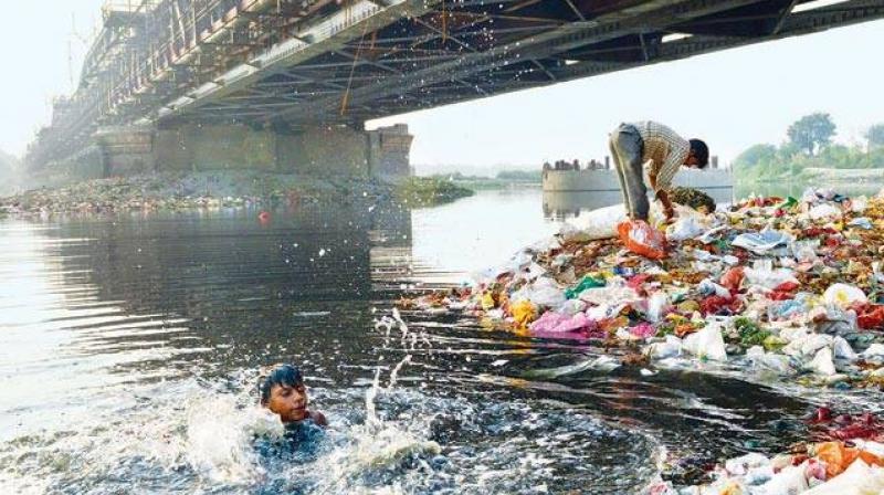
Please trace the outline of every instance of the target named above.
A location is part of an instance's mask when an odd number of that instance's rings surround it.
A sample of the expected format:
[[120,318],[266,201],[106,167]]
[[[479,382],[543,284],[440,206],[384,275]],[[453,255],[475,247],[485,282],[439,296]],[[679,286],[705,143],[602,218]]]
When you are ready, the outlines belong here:
[[[884,17],[884,1],[462,0],[265,76],[217,86],[160,119],[359,123]],[[359,27],[355,27],[359,31]],[[317,46],[318,48],[318,46]]]

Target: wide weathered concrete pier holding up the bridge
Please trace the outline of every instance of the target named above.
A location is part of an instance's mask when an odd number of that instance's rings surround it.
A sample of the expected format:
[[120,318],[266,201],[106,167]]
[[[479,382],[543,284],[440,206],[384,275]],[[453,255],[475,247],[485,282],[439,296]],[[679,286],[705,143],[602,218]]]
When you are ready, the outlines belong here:
[[399,124],[256,129],[241,124],[105,127],[95,135],[105,176],[250,169],[397,180],[411,175],[413,136]]

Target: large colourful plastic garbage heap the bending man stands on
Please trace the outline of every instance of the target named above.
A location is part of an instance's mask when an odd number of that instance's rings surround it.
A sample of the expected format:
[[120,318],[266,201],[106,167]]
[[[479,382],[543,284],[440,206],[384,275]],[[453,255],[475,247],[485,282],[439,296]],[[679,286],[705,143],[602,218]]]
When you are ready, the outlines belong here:
[[470,286],[407,304],[603,341],[614,357],[639,349],[651,368],[718,365],[804,386],[884,385],[884,199],[811,189],[712,213],[678,206],[665,227],[659,218],[652,211],[665,231],[661,256],[624,249],[622,206],[610,207]]

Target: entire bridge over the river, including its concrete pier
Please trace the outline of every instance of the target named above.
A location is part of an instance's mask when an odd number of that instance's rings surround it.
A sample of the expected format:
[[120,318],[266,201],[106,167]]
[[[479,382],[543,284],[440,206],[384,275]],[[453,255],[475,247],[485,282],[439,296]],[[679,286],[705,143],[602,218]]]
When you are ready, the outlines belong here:
[[[114,0],[33,170],[408,173],[368,119],[884,17],[884,0]],[[340,168],[344,168],[343,170]]]

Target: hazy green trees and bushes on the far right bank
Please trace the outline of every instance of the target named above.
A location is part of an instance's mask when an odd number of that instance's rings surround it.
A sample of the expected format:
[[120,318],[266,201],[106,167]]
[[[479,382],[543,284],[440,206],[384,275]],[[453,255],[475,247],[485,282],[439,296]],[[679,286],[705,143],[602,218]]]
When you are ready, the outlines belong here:
[[829,114],[802,117],[789,126],[782,145],[760,144],[743,151],[734,160],[734,173],[740,182],[884,179],[884,124],[869,128],[866,146],[832,144],[834,133]]

